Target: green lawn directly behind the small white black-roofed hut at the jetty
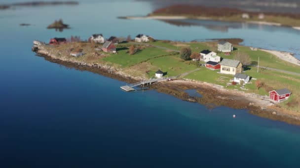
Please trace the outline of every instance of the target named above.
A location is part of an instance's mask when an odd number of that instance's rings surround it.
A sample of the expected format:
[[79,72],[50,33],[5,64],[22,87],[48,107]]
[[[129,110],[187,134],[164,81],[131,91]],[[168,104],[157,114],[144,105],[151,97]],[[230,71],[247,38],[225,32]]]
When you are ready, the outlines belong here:
[[151,65],[154,66],[150,69],[150,77],[153,77],[158,69],[162,72],[167,72],[167,75],[170,77],[180,75],[197,68],[195,65],[189,65],[189,61],[183,61],[179,56],[163,56],[150,59],[147,62],[150,62]]

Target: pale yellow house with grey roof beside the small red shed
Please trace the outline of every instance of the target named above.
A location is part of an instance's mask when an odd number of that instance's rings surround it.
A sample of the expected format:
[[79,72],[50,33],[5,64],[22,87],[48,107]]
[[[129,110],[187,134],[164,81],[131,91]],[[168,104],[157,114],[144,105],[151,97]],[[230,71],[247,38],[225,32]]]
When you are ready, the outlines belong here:
[[239,60],[223,59],[221,62],[221,73],[231,75],[242,73],[242,63]]

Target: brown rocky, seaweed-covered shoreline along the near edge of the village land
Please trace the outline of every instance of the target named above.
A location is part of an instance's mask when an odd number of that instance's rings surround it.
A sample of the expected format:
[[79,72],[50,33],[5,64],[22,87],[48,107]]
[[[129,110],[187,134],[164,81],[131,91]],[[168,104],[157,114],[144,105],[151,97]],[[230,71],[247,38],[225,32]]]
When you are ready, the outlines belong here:
[[[135,83],[143,80],[122,72],[121,69],[109,65],[88,64],[84,62],[75,62],[64,59],[47,52],[43,47],[35,50],[38,56],[44,57],[50,62],[64,65],[69,68],[75,68],[80,71],[89,71],[100,74],[109,78],[117,79],[126,83]],[[195,102],[207,106],[208,108],[215,108],[218,106],[226,106],[233,109],[247,109],[250,113],[293,125],[300,125],[300,116],[297,113],[282,111],[280,107],[271,106],[272,104],[265,104],[260,98],[254,98],[241,92],[234,92],[224,88],[218,88],[213,84],[195,82],[190,80],[174,80],[170,82],[155,83],[150,86],[150,89],[155,89],[158,92],[172,95],[184,101]],[[185,91],[187,89],[196,89],[202,97],[189,96]],[[238,94],[237,94],[238,93]]]

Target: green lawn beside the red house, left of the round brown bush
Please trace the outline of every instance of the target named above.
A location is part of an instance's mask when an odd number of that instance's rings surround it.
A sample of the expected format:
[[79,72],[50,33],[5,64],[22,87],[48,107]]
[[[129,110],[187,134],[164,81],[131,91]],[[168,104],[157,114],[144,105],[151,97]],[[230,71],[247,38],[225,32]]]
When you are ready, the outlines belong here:
[[120,50],[118,51],[118,54],[112,54],[111,56],[103,58],[103,60],[119,64],[123,67],[129,67],[149,58],[170,54],[165,50],[155,47],[143,49],[132,56],[126,53],[127,51],[128,50]]

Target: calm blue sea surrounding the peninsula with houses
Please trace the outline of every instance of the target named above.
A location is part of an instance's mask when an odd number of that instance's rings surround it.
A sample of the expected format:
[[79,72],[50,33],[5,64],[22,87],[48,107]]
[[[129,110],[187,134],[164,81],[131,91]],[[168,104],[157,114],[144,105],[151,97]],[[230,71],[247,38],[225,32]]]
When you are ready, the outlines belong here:
[[[148,2],[127,0],[0,11],[0,168],[300,167],[298,126],[245,110],[208,110],[156,91],[126,93],[119,89],[123,82],[66,68],[31,52],[34,39],[87,39],[92,33],[147,33],[186,41],[242,37],[245,44],[284,51],[300,37],[288,28],[225,32],[116,19],[150,11]],[[46,29],[60,18],[72,28]]]

